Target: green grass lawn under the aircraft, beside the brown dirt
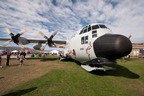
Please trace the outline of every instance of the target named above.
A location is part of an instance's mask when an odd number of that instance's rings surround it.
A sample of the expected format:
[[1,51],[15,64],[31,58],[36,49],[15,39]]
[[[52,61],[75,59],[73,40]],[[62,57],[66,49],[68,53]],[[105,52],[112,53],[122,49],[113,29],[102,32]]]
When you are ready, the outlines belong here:
[[144,59],[117,61],[115,71],[88,73],[74,62],[54,69],[9,91],[4,96],[143,96]]

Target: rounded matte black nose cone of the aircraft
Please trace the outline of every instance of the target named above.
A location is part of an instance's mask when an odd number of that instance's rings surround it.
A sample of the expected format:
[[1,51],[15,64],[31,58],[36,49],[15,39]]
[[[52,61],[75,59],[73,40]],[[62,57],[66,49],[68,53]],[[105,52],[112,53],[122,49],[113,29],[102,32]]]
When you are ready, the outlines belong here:
[[106,34],[96,39],[93,47],[97,57],[117,59],[131,52],[132,43],[123,35]]

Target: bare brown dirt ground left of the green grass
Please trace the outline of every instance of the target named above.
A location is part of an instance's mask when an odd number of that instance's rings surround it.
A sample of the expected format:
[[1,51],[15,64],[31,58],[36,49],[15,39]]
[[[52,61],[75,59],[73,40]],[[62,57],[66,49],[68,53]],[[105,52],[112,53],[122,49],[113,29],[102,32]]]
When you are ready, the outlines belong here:
[[57,64],[56,60],[46,59],[25,60],[22,66],[17,59],[12,59],[10,66],[5,64],[6,60],[4,59],[2,60],[3,68],[0,68],[0,95],[53,69],[66,69],[68,67],[64,64]]

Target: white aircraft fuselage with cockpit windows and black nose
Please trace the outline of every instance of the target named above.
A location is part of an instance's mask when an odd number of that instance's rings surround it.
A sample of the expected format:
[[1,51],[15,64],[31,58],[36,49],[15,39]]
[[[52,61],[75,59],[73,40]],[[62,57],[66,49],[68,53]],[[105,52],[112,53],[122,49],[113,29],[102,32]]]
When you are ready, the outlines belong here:
[[81,63],[102,58],[101,61],[106,62],[100,64],[106,64],[109,60],[114,61],[128,55],[131,50],[132,44],[127,37],[112,34],[105,25],[91,24],[77,32],[68,42],[65,55]]

